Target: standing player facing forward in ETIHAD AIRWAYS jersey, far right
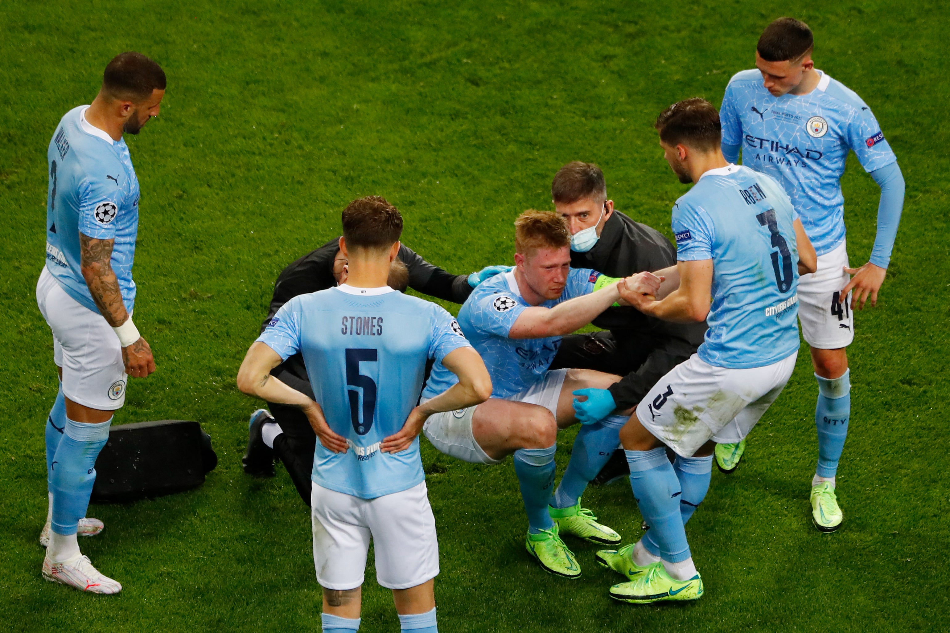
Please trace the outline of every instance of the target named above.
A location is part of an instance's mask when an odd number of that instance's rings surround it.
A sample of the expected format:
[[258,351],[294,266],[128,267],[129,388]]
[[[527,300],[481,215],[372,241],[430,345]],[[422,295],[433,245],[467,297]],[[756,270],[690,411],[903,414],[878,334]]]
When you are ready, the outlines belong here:
[[[877,304],[903,207],[903,177],[881,125],[853,91],[816,70],[811,29],[779,18],[762,33],[754,70],[730,80],[723,97],[723,154],[768,174],[791,197],[818,252],[818,270],[802,277],[799,320],[818,381],[815,425],[818,467],[811,481],[812,519],[835,531],[843,514],[835,475],[851,412],[845,347],[854,340],[853,309]],[[841,177],[853,150],[881,186],[877,238],[870,260],[849,268]],[[854,275],[851,277],[850,275]],[[849,293],[853,295],[848,300]],[[716,461],[734,469],[745,444],[716,447]]]

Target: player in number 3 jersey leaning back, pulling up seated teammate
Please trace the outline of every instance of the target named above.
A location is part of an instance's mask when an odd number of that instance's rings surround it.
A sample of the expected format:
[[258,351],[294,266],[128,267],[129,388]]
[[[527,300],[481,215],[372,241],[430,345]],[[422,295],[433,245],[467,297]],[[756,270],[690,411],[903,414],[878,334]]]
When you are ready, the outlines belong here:
[[[620,431],[630,482],[650,530],[603,550],[626,576],[611,597],[628,603],[696,600],[703,581],[685,525],[709,489],[714,443],[738,442],[785,387],[798,356],[798,278],[816,255],[791,200],[769,176],[723,158],[719,116],[688,99],[656,120],[680,182],[695,183],[673,208],[675,269],[638,275],[646,291],[620,289],[640,311],[709,325],[698,352],[661,378]],[[631,282],[630,286],[635,285]],[[667,447],[676,454],[667,458]]]

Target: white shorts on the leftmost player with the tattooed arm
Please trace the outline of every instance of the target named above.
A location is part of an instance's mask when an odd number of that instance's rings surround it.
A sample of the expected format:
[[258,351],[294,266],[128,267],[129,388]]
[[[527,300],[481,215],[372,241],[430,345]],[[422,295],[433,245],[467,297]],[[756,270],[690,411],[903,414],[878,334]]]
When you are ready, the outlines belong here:
[[44,266],[36,305],[53,331],[53,362],[63,368],[63,394],[101,411],[121,409],[128,376],[119,337],[103,315],[66,294]]

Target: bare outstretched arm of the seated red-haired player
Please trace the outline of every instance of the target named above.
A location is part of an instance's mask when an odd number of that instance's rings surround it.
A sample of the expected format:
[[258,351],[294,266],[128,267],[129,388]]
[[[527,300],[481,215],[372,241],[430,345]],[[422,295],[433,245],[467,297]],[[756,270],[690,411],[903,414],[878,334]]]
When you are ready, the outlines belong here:
[[511,326],[508,338],[543,339],[570,334],[589,324],[600,312],[613,306],[619,298],[618,284],[614,283],[555,307],[528,307],[519,315],[515,325]]

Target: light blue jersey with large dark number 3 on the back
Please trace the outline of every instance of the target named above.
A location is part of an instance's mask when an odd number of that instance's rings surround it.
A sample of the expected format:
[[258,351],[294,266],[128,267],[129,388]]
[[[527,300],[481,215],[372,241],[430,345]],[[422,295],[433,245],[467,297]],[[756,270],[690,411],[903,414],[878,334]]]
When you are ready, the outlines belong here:
[[712,259],[706,363],[763,367],[798,349],[797,217],[778,183],[745,166],[712,169],[676,200],[676,259]]

